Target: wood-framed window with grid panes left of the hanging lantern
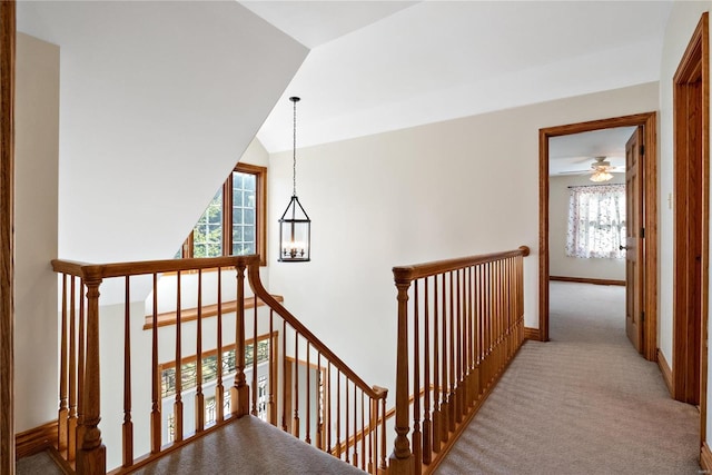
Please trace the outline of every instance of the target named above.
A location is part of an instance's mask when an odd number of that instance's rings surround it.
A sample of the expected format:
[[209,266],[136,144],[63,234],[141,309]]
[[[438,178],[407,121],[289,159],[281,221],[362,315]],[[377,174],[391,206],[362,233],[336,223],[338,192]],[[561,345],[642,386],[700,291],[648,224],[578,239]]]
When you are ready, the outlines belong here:
[[237,164],[176,257],[247,256],[267,247],[267,168]]

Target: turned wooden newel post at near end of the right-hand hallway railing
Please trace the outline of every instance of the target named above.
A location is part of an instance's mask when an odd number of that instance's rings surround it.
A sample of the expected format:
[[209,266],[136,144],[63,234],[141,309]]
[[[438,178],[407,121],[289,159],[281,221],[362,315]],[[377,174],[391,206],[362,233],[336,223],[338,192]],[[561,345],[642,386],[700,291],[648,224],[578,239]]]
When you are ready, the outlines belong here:
[[409,273],[393,269],[398,289],[398,342],[396,359],[396,439],[389,458],[388,474],[412,475],[415,471],[408,442],[408,288]]

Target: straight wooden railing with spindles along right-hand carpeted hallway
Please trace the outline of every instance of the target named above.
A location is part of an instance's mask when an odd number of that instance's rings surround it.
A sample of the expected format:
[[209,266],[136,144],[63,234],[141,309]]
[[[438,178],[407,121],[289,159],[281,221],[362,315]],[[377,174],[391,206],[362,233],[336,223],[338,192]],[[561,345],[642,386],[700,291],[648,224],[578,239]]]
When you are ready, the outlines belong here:
[[528,254],[523,246],[393,269],[398,340],[390,474],[433,471],[521,347]]

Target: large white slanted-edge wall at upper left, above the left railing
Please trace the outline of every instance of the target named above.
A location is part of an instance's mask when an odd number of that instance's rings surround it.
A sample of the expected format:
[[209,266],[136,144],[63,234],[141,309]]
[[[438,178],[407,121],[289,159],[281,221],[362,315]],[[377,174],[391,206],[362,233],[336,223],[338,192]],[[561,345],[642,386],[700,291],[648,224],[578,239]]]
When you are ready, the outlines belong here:
[[59,255],[93,263],[171,257],[308,52],[233,1],[19,2],[18,28],[61,47]]

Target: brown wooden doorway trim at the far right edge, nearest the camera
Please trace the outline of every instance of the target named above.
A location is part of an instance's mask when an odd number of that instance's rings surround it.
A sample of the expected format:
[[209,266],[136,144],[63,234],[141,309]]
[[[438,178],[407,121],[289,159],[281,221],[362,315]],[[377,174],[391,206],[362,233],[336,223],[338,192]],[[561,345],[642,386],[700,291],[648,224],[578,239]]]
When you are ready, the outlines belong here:
[[[700,404],[701,444],[706,439],[708,410],[709,115],[709,13],[705,12],[692,33],[673,78],[676,197],[673,248],[676,271],[673,275],[672,387],[675,399]],[[695,118],[699,118],[699,122]],[[701,182],[695,182],[696,179]],[[688,199],[692,194],[701,195],[699,202],[698,199]],[[699,222],[696,218],[700,218]],[[690,235],[689,229],[698,234]],[[700,263],[699,269],[696,263]]]

